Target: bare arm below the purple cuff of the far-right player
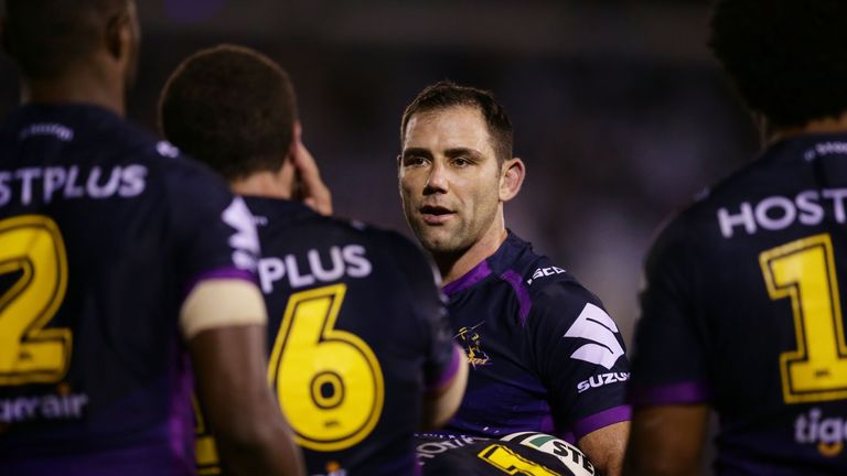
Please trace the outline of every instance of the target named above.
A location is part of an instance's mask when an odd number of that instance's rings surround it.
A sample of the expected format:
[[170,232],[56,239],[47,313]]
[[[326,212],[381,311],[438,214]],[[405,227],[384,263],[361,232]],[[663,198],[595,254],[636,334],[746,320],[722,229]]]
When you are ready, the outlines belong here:
[[699,474],[708,416],[706,404],[635,409],[624,474]]

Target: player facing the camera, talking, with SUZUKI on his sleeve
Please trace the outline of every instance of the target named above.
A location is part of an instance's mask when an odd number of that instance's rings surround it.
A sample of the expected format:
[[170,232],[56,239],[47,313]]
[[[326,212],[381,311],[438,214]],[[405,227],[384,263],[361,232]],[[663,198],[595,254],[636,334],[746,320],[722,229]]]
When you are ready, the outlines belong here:
[[403,207],[444,280],[472,370],[447,430],[568,435],[618,474],[629,428],[629,363],[600,301],[505,227],[524,163],[493,96],[449,82],[421,91],[401,121]]

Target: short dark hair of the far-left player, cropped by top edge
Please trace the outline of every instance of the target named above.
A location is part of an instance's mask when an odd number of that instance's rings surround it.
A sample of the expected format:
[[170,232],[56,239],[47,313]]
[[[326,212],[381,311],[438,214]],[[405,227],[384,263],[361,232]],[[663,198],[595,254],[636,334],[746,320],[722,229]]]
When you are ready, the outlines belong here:
[[6,0],[3,46],[32,79],[55,77],[92,54],[131,0]]

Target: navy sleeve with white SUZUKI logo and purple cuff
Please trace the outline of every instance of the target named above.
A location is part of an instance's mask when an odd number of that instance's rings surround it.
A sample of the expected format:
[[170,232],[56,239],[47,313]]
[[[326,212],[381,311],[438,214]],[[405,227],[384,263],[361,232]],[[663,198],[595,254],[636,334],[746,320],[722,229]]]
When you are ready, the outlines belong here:
[[625,345],[593,294],[573,282],[550,283],[534,296],[527,325],[554,418],[577,440],[630,420]]

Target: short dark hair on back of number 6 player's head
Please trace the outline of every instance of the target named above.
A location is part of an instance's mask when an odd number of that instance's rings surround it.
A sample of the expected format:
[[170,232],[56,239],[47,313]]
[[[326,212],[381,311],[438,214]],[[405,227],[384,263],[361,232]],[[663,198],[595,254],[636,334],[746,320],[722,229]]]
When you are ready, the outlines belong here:
[[171,74],[159,100],[164,137],[229,181],[279,170],[296,121],[288,73],[243,46],[191,55]]

